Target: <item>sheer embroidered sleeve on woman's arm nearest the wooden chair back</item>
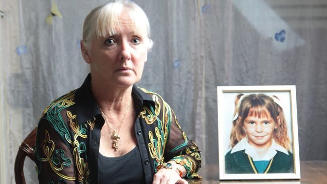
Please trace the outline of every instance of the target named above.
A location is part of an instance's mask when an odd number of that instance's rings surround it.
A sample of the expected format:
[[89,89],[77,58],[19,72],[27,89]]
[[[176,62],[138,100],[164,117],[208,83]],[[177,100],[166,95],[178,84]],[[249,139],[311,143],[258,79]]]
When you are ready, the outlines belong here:
[[73,152],[69,141],[62,139],[65,134],[50,121],[40,120],[35,147],[39,183],[75,183]]

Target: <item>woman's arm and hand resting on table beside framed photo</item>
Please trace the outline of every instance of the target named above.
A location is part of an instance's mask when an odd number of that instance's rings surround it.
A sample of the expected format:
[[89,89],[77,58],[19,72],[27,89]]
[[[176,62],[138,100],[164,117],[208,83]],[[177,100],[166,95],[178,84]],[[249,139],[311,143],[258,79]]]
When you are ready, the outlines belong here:
[[198,146],[189,140],[178,124],[173,110],[167,106],[166,131],[168,141],[165,146],[165,163],[160,163],[153,177],[156,183],[187,183],[187,178],[201,178],[196,172],[201,167],[201,156]]

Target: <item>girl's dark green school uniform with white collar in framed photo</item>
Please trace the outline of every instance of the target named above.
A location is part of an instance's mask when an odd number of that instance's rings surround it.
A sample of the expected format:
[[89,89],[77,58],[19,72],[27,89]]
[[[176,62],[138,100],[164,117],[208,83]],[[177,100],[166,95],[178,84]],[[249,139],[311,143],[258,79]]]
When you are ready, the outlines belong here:
[[261,158],[245,137],[225,154],[225,173],[294,173],[293,154],[273,139]]

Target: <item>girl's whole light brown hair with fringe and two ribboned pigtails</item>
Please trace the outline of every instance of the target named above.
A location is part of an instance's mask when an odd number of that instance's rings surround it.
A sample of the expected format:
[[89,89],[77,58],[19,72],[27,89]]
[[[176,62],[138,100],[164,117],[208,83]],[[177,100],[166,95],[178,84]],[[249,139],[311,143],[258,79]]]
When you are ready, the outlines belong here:
[[[242,97],[242,99],[241,99]],[[274,98],[278,99],[276,96]],[[241,99],[240,102],[238,102]],[[232,129],[230,133],[230,145],[234,147],[242,138],[246,137],[246,132],[243,131],[244,120],[248,116],[267,116],[267,113],[273,118],[278,125],[274,130],[274,140],[282,145],[288,151],[290,150],[290,139],[287,135],[287,125],[284,116],[284,111],[272,97],[265,94],[251,94],[244,96],[238,94],[235,98],[235,112],[237,116],[232,121]],[[279,117],[279,119],[277,118]]]

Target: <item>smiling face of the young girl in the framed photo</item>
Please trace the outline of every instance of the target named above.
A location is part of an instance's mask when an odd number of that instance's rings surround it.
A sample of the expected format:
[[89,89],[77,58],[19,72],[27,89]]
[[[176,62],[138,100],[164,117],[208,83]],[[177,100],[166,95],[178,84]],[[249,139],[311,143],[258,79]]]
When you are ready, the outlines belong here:
[[[257,114],[258,115],[258,114]],[[277,117],[278,119],[278,117]],[[243,123],[249,144],[256,149],[269,148],[272,144],[274,129],[277,128],[277,123],[271,117],[270,113],[262,113],[259,116],[248,116]]]

